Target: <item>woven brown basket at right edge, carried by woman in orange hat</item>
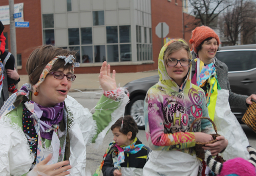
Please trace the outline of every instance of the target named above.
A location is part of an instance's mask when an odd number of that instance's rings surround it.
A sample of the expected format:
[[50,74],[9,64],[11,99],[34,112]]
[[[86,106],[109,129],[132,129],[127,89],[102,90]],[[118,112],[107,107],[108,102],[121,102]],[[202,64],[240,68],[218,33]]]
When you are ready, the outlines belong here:
[[256,133],[256,102],[251,100],[252,104],[247,108],[242,121]]

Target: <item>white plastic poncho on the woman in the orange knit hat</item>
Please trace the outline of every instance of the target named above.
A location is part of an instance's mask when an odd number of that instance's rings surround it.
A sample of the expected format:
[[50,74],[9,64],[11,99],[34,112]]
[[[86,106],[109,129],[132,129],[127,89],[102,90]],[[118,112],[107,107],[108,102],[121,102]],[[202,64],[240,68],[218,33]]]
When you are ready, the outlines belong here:
[[248,160],[249,153],[246,147],[249,145],[249,141],[236,116],[231,112],[228,97],[228,90],[218,90],[214,123],[218,129],[218,134],[228,140],[227,148],[220,155],[225,160],[237,157]]

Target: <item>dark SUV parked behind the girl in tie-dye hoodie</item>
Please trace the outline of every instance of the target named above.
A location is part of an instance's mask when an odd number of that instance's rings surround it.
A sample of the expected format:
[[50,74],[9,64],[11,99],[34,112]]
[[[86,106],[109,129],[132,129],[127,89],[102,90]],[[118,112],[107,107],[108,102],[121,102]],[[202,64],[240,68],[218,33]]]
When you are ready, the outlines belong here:
[[[256,45],[241,45],[220,47],[216,54],[217,59],[226,63],[228,79],[232,92],[242,95],[256,93]],[[157,83],[159,76],[151,76],[131,81],[124,86],[130,92],[130,103],[125,113],[133,116],[139,128],[144,127],[144,98],[148,89]],[[242,108],[233,108],[231,111],[240,123],[246,111]]]

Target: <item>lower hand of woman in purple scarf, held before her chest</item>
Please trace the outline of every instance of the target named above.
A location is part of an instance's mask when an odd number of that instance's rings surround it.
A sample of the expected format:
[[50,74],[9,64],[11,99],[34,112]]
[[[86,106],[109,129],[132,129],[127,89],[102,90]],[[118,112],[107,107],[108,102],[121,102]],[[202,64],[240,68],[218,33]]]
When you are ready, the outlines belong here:
[[[62,161],[55,164],[46,165],[51,158],[52,158],[52,155],[49,155],[45,160],[39,162],[36,165],[38,175],[41,174],[42,176],[43,175],[64,176],[70,173],[70,171],[67,171],[72,168],[70,165],[68,165],[69,161]],[[65,166],[65,165],[68,165],[68,166]]]

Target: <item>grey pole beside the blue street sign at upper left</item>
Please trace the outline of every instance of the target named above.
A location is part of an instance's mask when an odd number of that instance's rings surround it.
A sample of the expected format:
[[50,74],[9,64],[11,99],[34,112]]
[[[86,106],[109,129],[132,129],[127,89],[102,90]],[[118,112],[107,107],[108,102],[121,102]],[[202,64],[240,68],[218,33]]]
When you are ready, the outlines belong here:
[[17,48],[16,48],[16,29],[14,14],[14,0],[9,0],[9,12],[10,12],[10,36],[11,36],[11,53],[15,58],[15,69],[17,70]]

